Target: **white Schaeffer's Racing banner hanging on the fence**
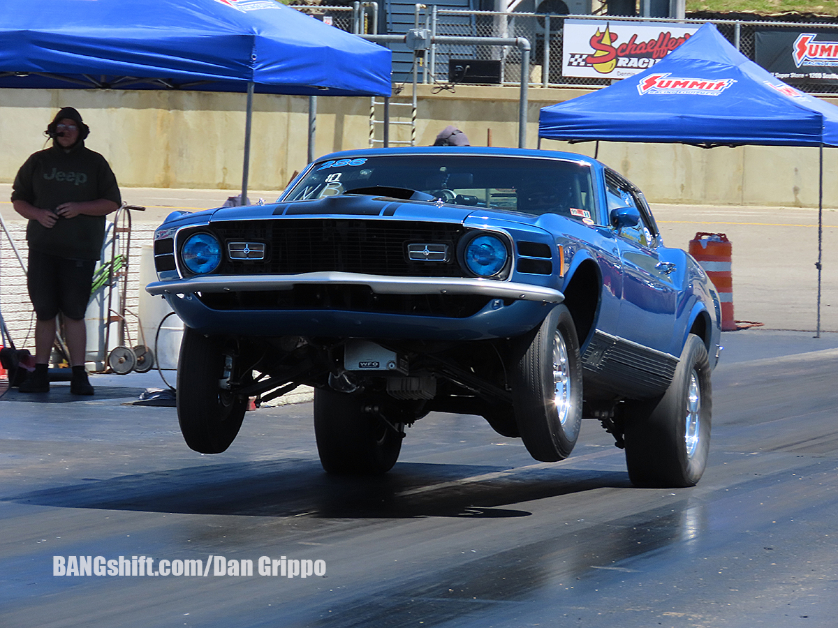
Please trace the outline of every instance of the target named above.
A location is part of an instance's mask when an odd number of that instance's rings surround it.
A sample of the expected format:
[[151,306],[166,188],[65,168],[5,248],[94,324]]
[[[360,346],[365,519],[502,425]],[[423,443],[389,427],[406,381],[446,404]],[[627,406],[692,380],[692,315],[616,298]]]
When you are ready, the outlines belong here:
[[699,26],[566,19],[561,74],[591,79],[636,75],[690,39]]

